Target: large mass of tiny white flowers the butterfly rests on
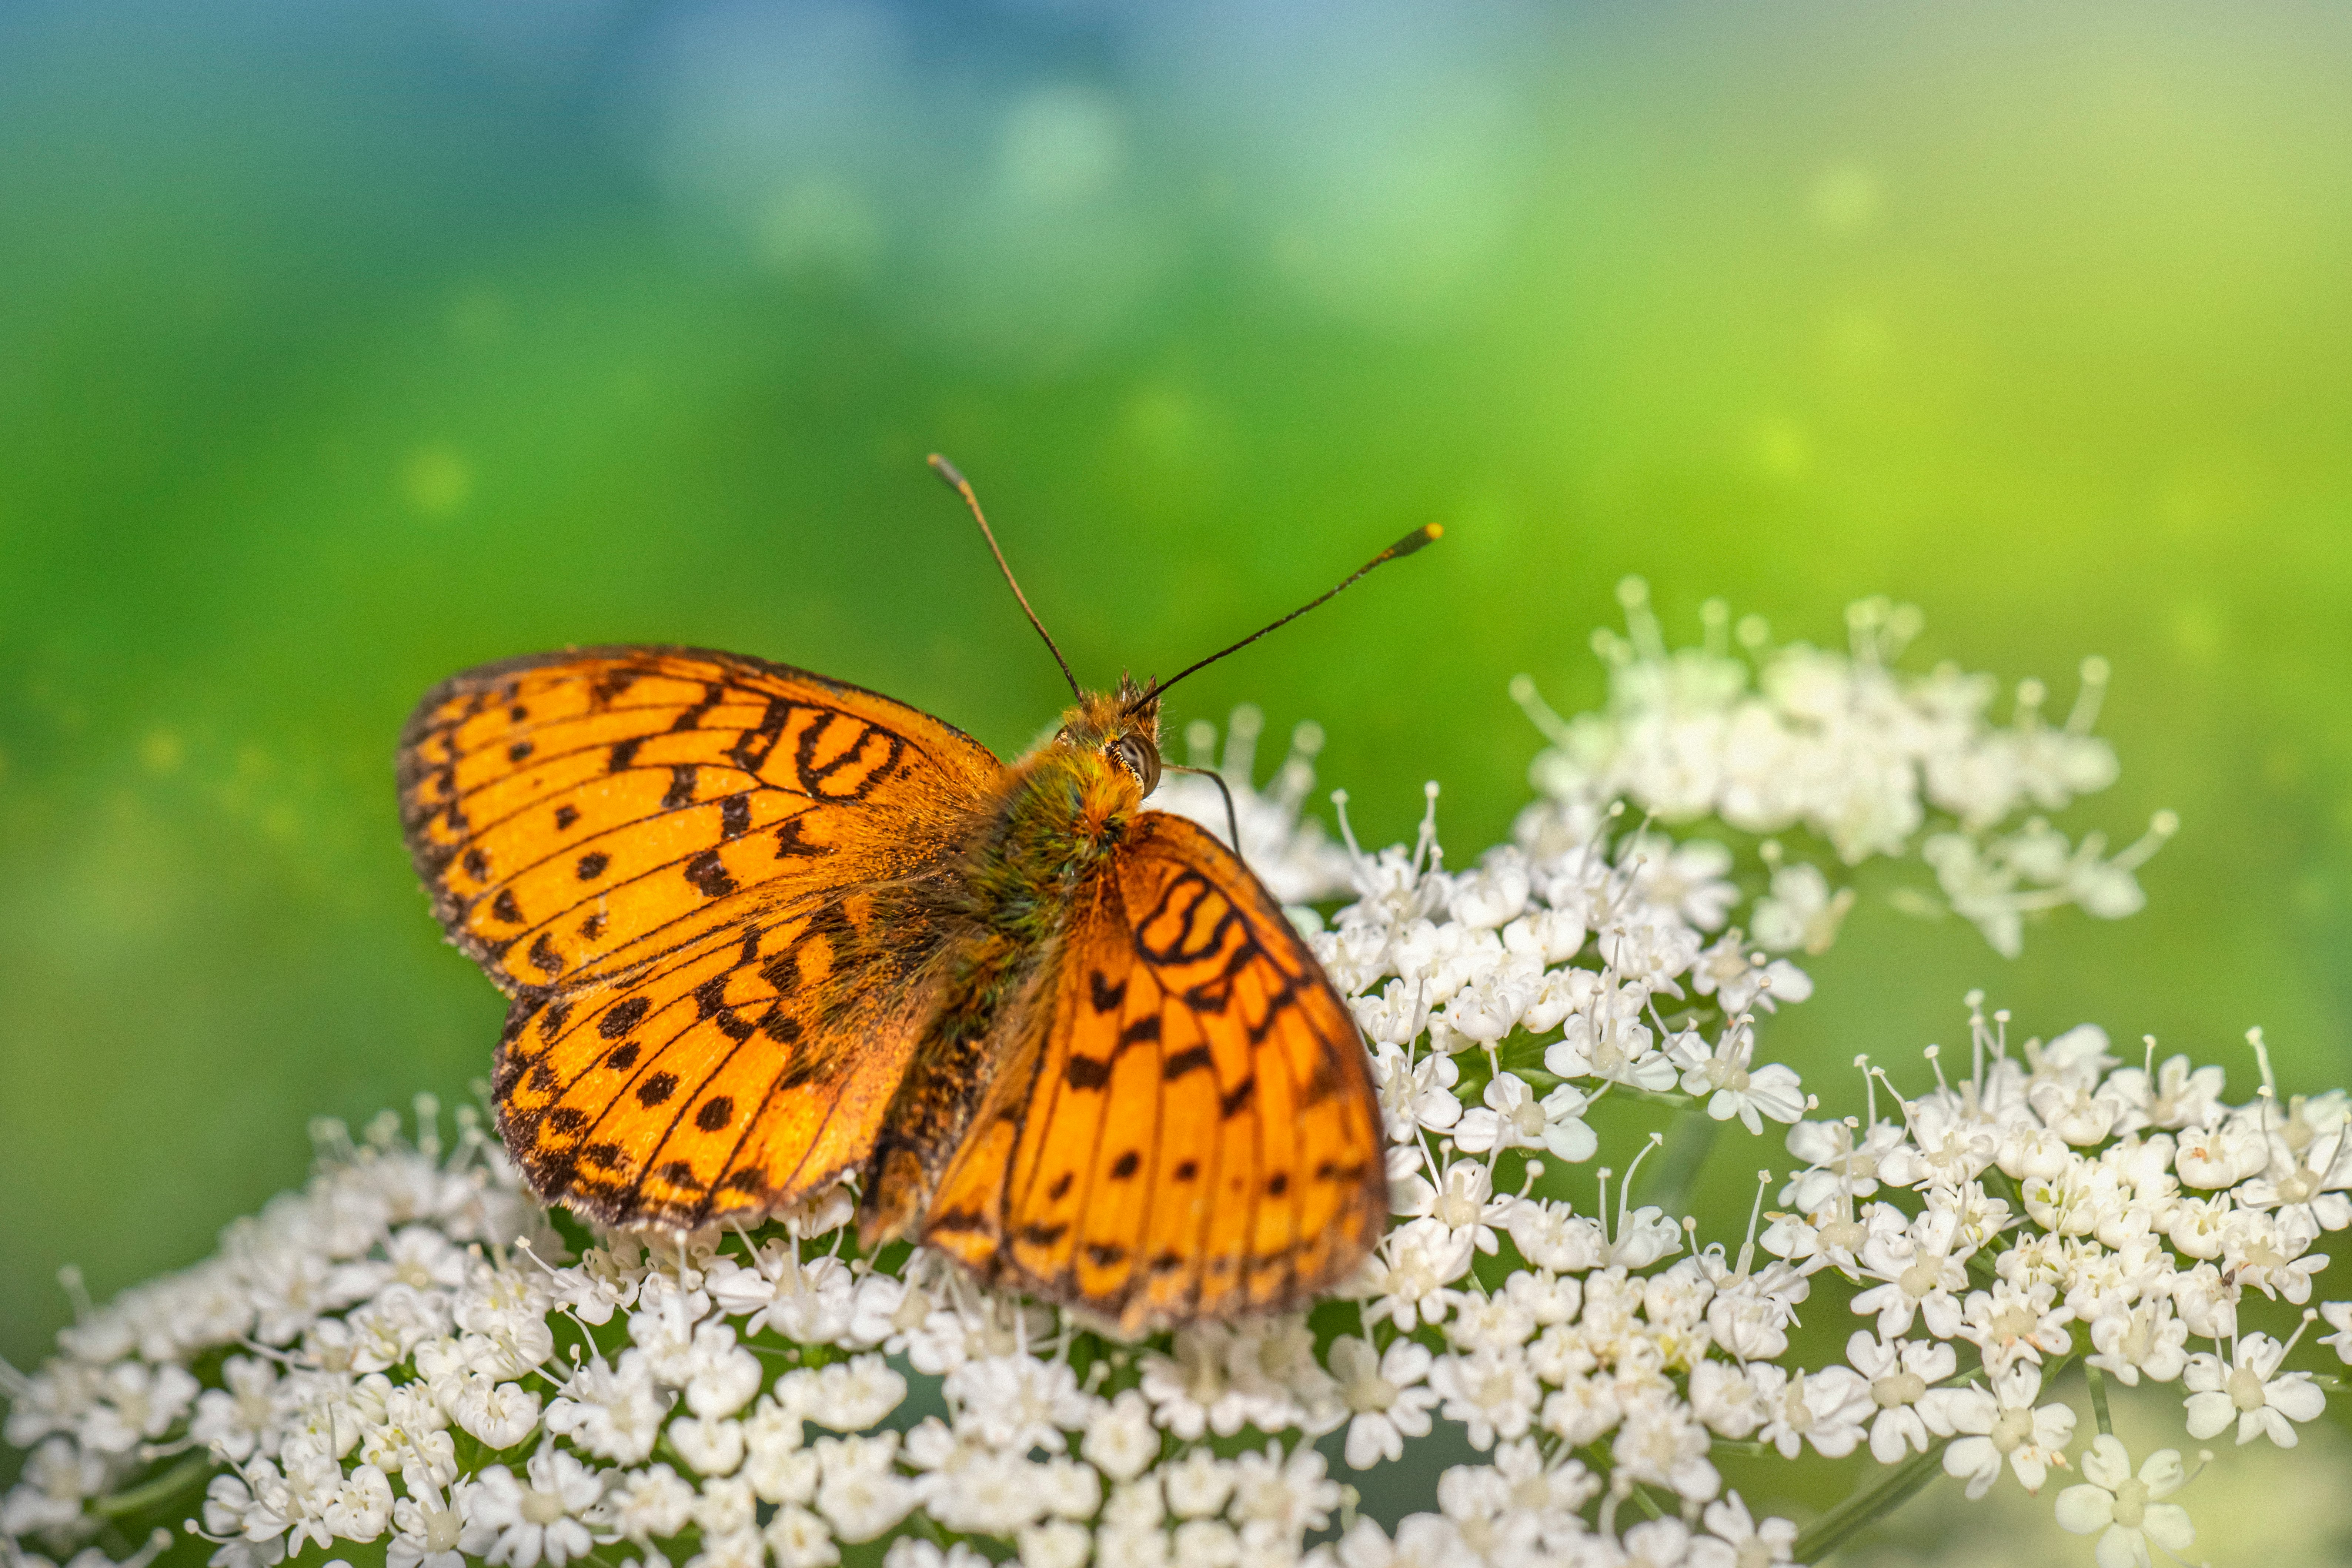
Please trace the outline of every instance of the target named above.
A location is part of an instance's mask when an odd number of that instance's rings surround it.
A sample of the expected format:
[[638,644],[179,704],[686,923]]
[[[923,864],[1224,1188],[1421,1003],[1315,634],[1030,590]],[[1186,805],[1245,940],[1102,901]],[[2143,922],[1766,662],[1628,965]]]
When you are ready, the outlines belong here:
[[[2286,1366],[2303,1328],[2258,1324],[2321,1295],[2312,1248],[2352,1222],[2343,1093],[2281,1100],[2263,1058],[2232,1103],[2220,1067],[2152,1041],[2126,1065],[2096,1027],[2011,1048],[1971,999],[1966,1077],[1929,1048],[1933,1088],[1903,1093],[1865,1063],[1860,1114],[1825,1117],[1757,1060],[1759,1020],[1811,992],[1785,954],[1844,914],[1816,867],[1743,867],[1606,792],[1555,795],[1465,870],[1435,788],[1414,846],[1341,851],[1298,827],[1315,736],[1258,792],[1237,729],[1251,863],[1303,896],[1338,856],[1355,891],[1294,912],[1390,1140],[1395,1220],[1336,1300],[1117,1342],[931,1253],[863,1255],[847,1192],[757,1234],[597,1237],[539,1211],[470,1114],[442,1150],[421,1103],[414,1138],[322,1126],[308,1190],[85,1307],[38,1373],[0,1368],[26,1450],[9,1566],[143,1568],[136,1530],[186,1521],[214,1568],[369,1542],[388,1568],[816,1568],[861,1542],[889,1568],[1769,1568],[1938,1469],[1971,1497],[2072,1469],[2058,1523],[2124,1568],[2192,1540],[2190,1469],[2131,1465],[2107,1378],[2178,1385],[2192,1439],[2293,1443],[2321,1410],[2333,1382]],[[1900,726],[1837,745],[1882,785],[1922,766]],[[1658,806],[1646,788],[1609,785]],[[1225,809],[1207,783],[1188,806]],[[1677,1131],[1581,1173],[1609,1098]],[[1733,1121],[1776,1124],[1795,1164],[1736,1248],[1700,1246],[1682,1192]],[[1809,1300],[1856,1314],[1842,1359],[1795,1363]],[[2319,1314],[2352,1359],[2352,1302]],[[2079,1458],[2077,1366],[2100,1429]],[[1484,1458],[1397,1519],[1383,1467],[1437,1422]],[[1889,1469],[1804,1533],[1719,1469],[1865,1448]]]

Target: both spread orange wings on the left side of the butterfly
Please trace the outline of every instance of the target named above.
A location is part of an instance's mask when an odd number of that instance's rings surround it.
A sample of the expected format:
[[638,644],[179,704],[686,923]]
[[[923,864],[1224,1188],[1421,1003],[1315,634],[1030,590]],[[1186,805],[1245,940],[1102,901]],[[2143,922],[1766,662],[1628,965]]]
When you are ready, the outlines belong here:
[[402,820],[513,997],[494,1100],[532,1185],[691,1227],[863,1159],[927,1009],[936,882],[1002,773],[903,703],[731,654],[546,654],[428,693]]

